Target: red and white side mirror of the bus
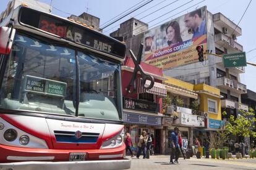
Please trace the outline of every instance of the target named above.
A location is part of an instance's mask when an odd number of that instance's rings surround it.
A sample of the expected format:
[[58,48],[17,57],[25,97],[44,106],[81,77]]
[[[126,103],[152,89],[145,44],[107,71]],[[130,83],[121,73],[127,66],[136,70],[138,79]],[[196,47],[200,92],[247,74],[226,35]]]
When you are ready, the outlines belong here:
[[0,26],[0,54],[10,54],[15,31],[14,28]]

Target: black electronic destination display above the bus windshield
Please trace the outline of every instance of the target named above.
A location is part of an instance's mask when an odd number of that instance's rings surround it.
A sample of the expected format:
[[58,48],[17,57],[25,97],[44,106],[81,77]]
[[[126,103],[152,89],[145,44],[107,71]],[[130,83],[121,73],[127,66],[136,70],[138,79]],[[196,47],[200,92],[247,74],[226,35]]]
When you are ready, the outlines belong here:
[[116,41],[116,39],[109,38],[104,34],[90,30],[90,28],[86,28],[85,26],[68,22],[62,18],[41,13],[37,10],[28,9],[27,7],[22,7],[20,9],[19,18],[20,22],[23,24],[55,34],[69,41],[115,55],[121,59],[124,59],[125,57],[126,45]]

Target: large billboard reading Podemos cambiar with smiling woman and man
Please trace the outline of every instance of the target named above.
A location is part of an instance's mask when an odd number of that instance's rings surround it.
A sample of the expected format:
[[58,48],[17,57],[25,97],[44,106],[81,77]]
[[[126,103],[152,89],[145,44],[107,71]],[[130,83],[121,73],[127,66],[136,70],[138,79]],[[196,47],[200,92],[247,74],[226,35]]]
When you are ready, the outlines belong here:
[[144,62],[163,70],[198,62],[195,48],[207,49],[206,11],[205,6],[146,31]]

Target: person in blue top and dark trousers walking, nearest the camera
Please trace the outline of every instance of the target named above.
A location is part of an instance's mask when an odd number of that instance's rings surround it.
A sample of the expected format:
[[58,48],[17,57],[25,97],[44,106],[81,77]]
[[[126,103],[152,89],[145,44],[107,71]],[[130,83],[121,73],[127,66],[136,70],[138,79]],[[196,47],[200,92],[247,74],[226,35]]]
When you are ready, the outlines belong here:
[[[169,164],[174,164],[174,163],[179,163],[179,137],[178,137],[178,132],[179,128],[175,127],[174,132],[171,132],[171,156],[170,156],[170,163]],[[174,162],[173,162],[174,159]]]

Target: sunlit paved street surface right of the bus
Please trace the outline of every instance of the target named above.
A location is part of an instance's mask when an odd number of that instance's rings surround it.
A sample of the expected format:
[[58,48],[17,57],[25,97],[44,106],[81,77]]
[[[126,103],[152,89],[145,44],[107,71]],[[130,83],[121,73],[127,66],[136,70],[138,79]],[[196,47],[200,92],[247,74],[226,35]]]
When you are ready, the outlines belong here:
[[256,159],[242,159],[242,160],[213,160],[213,159],[197,159],[190,158],[189,160],[179,160],[179,164],[169,164],[169,156],[159,155],[151,156],[150,159],[143,160],[142,156],[140,159],[132,158],[131,169],[256,169]]

